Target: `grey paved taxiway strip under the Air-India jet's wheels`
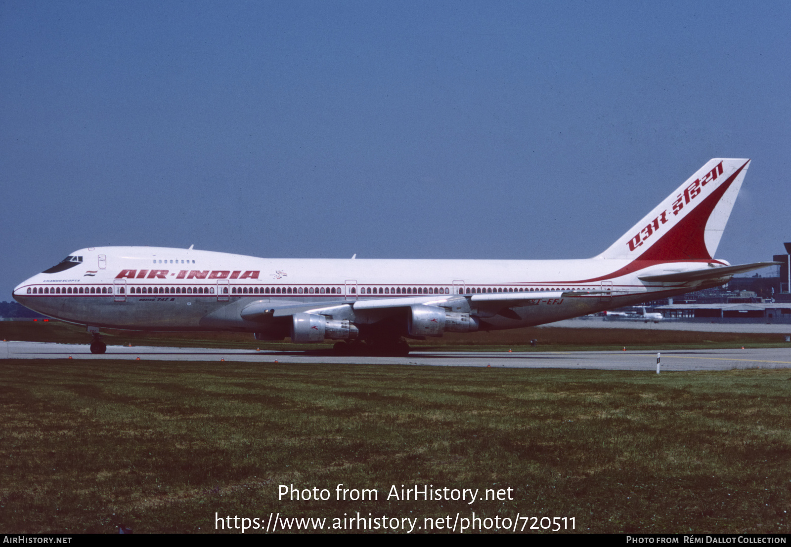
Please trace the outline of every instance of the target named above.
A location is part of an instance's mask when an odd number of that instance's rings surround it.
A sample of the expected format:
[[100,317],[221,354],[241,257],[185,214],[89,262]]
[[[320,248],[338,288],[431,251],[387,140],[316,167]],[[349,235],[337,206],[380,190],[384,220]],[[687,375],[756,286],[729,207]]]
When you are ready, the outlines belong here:
[[[88,345],[47,342],[0,342],[0,358],[73,360],[180,360],[252,363],[412,364],[441,367],[596,368],[656,372],[657,352],[421,352],[407,357],[333,356],[329,352],[265,352],[249,349],[108,346],[93,355]],[[791,346],[771,349],[679,349],[661,353],[661,370],[731,370],[791,368]]]

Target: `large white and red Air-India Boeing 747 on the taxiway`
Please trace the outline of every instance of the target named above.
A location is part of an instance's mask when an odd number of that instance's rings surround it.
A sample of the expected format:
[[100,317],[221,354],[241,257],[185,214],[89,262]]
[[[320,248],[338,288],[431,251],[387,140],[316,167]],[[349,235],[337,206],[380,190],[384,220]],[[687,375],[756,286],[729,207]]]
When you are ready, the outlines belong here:
[[225,330],[337,340],[338,353],[406,355],[405,338],[514,329],[723,285],[770,266],[713,258],[750,160],[714,159],[606,251],[577,260],[255,258],[87,247],[13,289],[21,304],[100,328]]

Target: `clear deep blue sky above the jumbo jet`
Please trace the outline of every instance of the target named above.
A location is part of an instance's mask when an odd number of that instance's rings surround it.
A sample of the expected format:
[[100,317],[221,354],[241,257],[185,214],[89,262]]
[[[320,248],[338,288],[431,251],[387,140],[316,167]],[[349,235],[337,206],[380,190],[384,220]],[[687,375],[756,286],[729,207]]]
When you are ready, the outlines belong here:
[[[755,7],[753,7],[755,6]],[[0,2],[0,289],[81,247],[585,258],[712,157],[791,240],[787,2]]]

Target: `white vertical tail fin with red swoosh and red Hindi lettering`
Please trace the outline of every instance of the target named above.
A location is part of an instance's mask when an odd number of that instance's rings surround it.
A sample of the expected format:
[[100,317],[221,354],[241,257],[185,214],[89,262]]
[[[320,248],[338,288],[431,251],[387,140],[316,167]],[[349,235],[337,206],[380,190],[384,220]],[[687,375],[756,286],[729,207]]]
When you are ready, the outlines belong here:
[[596,258],[713,258],[750,160],[716,158]]

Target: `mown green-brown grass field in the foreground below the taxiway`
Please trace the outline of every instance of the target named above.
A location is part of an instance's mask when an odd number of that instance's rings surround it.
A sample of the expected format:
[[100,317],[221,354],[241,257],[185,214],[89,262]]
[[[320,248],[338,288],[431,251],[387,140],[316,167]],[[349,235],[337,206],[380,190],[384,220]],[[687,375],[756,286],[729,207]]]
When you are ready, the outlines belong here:
[[[417,526],[475,511],[576,532],[791,531],[789,370],[2,360],[0,390],[6,533],[213,532],[215,512],[270,511],[325,530],[358,511]],[[339,483],[379,499],[335,500]],[[291,484],[331,500],[278,500]],[[392,485],[513,500],[387,500]]]

